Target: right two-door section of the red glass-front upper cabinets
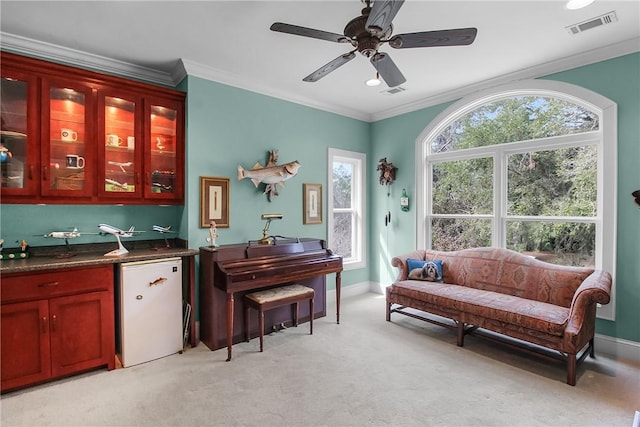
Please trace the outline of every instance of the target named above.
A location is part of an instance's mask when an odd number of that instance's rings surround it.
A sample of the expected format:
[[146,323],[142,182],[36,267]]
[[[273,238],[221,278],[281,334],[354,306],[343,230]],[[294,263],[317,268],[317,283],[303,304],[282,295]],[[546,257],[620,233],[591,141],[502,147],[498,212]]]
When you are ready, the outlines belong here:
[[98,194],[167,201],[184,198],[184,103],[98,91]]

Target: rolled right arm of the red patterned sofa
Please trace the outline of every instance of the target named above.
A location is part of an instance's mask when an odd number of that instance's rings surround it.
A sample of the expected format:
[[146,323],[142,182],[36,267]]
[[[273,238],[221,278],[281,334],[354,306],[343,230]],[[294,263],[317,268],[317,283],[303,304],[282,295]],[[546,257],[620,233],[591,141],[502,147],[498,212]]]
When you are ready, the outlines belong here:
[[[611,299],[611,274],[596,270],[580,284],[569,311],[569,322],[565,330],[569,335],[590,335],[595,328],[595,304],[608,304]],[[593,318],[593,319],[592,319]]]

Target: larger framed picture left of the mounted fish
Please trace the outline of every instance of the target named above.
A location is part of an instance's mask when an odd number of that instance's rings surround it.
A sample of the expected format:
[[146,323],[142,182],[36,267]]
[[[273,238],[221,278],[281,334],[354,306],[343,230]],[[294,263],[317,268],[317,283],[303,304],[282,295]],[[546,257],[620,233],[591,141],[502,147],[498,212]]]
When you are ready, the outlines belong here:
[[200,228],[229,227],[229,178],[200,177]]

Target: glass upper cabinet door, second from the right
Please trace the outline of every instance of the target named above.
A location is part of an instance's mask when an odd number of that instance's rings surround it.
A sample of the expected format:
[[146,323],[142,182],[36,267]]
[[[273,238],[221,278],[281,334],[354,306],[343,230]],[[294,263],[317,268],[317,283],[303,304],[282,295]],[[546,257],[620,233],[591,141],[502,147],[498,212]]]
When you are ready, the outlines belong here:
[[[135,97],[104,95],[100,97],[100,114],[104,119],[104,158],[101,170],[104,182],[100,193],[118,197],[140,197],[141,140],[139,126],[141,108]],[[102,191],[104,190],[104,191]]]

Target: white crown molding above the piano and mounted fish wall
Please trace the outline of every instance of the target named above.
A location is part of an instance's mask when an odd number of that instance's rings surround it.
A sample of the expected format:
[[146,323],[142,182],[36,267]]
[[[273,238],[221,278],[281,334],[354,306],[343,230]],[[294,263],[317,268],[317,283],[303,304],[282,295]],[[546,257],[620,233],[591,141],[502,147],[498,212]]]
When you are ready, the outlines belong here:
[[295,104],[304,105],[306,107],[315,108],[318,110],[335,113],[341,116],[351,117],[353,119],[362,120],[365,122],[371,121],[371,115],[363,113],[361,111],[352,110],[350,108],[341,108],[336,105],[325,104],[318,102],[317,100],[297,96],[287,91],[278,91],[273,88],[262,85],[255,82],[247,82],[246,80],[238,77],[237,75],[228,73],[226,71],[219,70],[217,68],[209,67],[207,65],[200,64],[189,59],[182,58],[176,67],[174,78],[184,76],[199,77],[205,80],[212,80],[218,83],[222,83],[228,86],[233,86],[239,89],[248,90],[250,92],[259,93],[261,95],[270,96],[273,98],[282,99],[284,101],[293,102]]

